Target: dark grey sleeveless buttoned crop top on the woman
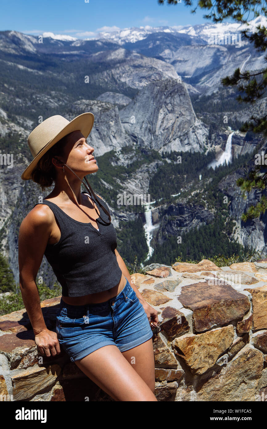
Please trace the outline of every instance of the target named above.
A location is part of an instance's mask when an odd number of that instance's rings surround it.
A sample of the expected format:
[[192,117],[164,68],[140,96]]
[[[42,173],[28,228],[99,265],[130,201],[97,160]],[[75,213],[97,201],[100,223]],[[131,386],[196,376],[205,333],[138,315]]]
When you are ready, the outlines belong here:
[[[101,218],[109,222],[99,203],[93,196],[90,198],[96,203]],[[101,203],[109,212],[102,199]],[[41,204],[51,208],[61,232],[59,241],[48,243],[44,254],[62,286],[62,295],[84,296],[116,286],[122,271],[115,254],[117,234],[113,224],[107,225],[99,217],[97,230],[91,222],[72,219],[54,202],[43,199]]]

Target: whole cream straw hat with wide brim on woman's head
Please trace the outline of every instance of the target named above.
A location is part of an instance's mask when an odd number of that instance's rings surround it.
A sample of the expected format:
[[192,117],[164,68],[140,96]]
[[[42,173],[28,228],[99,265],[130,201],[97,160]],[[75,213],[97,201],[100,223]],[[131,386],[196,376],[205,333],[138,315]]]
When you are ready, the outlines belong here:
[[72,121],[60,115],[54,115],[41,122],[28,137],[28,146],[33,160],[21,175],[23,180],[32,178],[32,172],[38,161],[55,143],[72,131],[80,130],[82,135],[87,138],[93,128],[93,113],[82,113]]

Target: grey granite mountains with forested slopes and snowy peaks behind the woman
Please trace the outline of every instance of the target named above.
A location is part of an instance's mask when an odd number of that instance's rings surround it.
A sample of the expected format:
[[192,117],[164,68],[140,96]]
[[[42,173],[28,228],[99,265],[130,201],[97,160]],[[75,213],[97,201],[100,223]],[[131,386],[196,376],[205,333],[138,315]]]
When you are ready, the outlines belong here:
[[[263,16],[250,21],[249,31],[266,21]],[[255,151],[266,146],[263,136],[239,131],[252,114],[266,111],[266,97],[253,106],[240,104],[236,90],[220,83],[237,67],[265,68],[264,55],[238,39],[243,28],[134,27],[94,39],[0,32],[0,149],[14,154],[13,168],[0,165],[0,245],[16,282],[19,226],[38,197],[49,193],[21,180],[32,160],[27,136],[40,118],[51,115],[71,120],[94,114],[87,141],[99,171],[87,178],[111,208],[118,251],[129,265],[135,256],[138,263],[146,260],[149,219],[144,207],[117,205],[124,191],[150,193],[154,201],[149,213],[154,253],[146,264],[170,264],[180,252],[195,258],[248,249],[266,254],[265,216],[241,221],[260,193],[244,200],[235,184],[252,167]],[[228,33],[232,39],[224,37]],[[224,159],[227,141],[231,163],[208,168],[212,160]],[[45,257],[39,275],[49,285],[55,280]]]

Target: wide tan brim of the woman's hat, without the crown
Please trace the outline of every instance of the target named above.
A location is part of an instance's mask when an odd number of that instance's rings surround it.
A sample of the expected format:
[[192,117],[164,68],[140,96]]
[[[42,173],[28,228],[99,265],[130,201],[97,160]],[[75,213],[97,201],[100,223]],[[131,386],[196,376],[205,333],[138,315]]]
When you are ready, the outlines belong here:
[[27,168],[24,170],[24,172],[21,175],[22,180],[30,180],[32,178],[32,172],[34,168],[36,167],[38,161],[42,156],[53,146],[55,145],[60,139],[62,139],[64,136],[66,136],[69,133],[72,133],[72,131],[80,130],[82,135],[85,137],[85,139],[89,136],[94,123],[94,115],[93,113],[87,112],[82,113],[79,116],[76,116],[76,118],[72,119],[72,121],[69,122],[69,124],[64,127],[60,133],[57,134],[57,136],[54,137],[50,142],[45,145],[45,147],[42,149],[42,151],[39,152],[38,155],[32,160],[32,162],[27,166]]

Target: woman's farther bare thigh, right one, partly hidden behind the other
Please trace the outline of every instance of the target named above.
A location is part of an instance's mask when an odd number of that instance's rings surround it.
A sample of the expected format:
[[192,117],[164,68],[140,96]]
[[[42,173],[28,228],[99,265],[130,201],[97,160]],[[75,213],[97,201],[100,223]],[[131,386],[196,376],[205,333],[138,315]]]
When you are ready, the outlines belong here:
[[152,338],[143,344],[122,352],[137,374],[144,380],[150,390],[155,392],[155,358]]

